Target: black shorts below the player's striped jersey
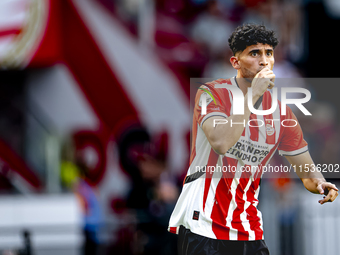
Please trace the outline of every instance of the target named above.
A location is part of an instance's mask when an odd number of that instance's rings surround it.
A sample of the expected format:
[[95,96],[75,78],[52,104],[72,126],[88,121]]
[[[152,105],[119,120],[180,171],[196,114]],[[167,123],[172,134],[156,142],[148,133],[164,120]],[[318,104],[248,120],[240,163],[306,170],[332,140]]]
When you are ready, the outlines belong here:
[[211,239],[181,226],[178,233],[178,255],[269,255],[269,250],[264,240]]

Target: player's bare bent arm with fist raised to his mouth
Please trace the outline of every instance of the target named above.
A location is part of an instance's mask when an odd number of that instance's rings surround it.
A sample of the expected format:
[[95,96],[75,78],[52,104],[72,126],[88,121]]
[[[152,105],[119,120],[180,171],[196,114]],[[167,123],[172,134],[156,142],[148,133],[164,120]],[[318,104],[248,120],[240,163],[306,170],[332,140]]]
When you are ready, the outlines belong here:
[[[253,104],[264,94],[264,92],[269,88],[273,87],[273,82],[270,79],[275,79],[275,74],[269,68],[263,68],[260,72],[258,72],[255,78],[261,79],[253,79],[252,88],[253,88]],[[244,115],[231,115],[227,119],[227,123],[244,123],[244,121],[248,121],[251,112],[248,109],[248,93],[244,96]],[[203,131],[211,144],[211,147],[219,154],[225,154],[241,137],[242,132],[244,130],[244,125],[235,124],[235,125],[215,125],[214,120],[221,119],[222,117],[211,117],[208,118],[203,123]]]

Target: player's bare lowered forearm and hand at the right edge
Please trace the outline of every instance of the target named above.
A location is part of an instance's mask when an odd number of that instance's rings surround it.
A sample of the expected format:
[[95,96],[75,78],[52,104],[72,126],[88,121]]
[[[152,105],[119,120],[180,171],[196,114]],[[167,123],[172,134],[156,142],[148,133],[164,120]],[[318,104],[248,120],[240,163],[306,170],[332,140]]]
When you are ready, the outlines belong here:
[[338,196],[338,188],[334,184],[326,182],[322,173],[316,171],[315,167],[313,168],[315,164],[308,151],[297,156],[286,156],[286,159],[296,169],[297,175],[308,191],[321,195],[325,194],[325,190],[329,191],[323,199],[319,200],[320,204],[335,200]]

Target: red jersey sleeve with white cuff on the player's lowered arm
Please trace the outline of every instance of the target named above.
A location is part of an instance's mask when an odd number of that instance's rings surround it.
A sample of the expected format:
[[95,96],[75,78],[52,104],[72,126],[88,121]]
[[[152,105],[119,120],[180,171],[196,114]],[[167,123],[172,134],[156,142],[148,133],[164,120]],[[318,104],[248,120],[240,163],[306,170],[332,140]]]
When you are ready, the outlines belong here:
[[278,150],[281,156],[296,156],[308,151],[308,144],[303,139],[301,126],[292,112],[287,107],[287,115],[281,122],[283,135]]

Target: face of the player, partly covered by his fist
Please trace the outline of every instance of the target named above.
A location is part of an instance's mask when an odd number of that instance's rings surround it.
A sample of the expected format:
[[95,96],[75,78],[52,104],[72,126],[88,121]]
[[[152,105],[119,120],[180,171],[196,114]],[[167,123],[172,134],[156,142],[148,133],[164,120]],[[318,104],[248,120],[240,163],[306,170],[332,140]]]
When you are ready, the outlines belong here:
[[243,52],[236,53],[238,70],[243,78],[252,79],[263,68],[274,67],[274,50],[268,44],[258,43],[248,46]]

